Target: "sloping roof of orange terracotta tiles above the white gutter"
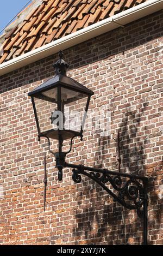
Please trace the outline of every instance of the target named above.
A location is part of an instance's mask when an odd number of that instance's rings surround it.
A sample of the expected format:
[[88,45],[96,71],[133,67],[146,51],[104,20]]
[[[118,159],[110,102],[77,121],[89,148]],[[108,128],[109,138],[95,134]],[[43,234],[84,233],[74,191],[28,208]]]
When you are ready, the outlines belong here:
[[4,35],[0,64],[146,1],[43,0],[27,16],[28,8],[18,14],[23,22]]

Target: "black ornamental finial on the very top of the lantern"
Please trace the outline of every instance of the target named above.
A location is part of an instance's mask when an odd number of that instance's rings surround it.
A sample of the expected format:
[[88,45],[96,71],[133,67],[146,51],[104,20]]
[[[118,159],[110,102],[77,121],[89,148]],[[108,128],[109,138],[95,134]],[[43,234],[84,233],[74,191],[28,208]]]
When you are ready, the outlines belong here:
[[64,53],[60,50],[59,59],[54,63],[53,67],[55,68],[56,75],[66,75],[66,70],[69,67],[67,62],[64,61]]

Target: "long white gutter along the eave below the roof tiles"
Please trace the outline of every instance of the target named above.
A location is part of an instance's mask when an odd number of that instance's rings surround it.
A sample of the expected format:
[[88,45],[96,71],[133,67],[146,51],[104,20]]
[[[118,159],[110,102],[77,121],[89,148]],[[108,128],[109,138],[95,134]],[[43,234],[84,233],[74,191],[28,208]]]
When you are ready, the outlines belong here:
[[145,3],[136,5],[122,13],[111,16],[107,19],[99,21],[89,27],[80,29],[77,32],[66,35],[63,38],[53,41],[47,45],[43,45],[38,49],[27,52],[10,61],[4,62],[0,65],[0,75],[7,74],[18,68],[22,68],[30,63],[39,61],[42,58],[53,55],[60,49],[64,50],[79,43],[82,43],[97,35],[106,33],[115,28],[122,27],[127,23],[141,19],[149,14],[155,13],[163,9],[163,0],[149,0]]

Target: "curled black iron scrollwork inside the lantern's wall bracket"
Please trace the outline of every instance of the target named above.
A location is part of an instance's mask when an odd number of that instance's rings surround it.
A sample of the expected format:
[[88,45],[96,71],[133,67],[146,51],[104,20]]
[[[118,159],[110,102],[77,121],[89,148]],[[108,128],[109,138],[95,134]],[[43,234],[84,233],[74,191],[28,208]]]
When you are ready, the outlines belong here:
[[[114,201],[117,201],[127,209],[141,209],[143,205],[143,186],[140,181],[135,180],[133,177],[128,180],[123,180],[121,176],[113,175],[112,177],[110,174],[107,174],[107,170],[104,170],[103,173],[97,171],[88,172],[82,168],[73,169],[72,171],[74,182],[81,182],[81,174],[83,174],[96,181],[114,198]],[[112,192],[109,186],[106,186],[108,182],[111,184],[112,188],[116,190],[116,193]]]

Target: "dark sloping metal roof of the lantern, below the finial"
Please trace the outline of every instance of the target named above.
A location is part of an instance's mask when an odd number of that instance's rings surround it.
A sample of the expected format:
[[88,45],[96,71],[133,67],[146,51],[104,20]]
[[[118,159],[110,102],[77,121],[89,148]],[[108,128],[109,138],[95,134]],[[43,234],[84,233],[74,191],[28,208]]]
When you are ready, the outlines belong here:
[[47,91],[59,85],[62,87],[68,88],[70,90],[78,91],[87,95],[94,94],[89,88],[86,88],[84,85],[80,84],[76,80],[66,75],[59,74],[54,76],[51,79],[48,79],[46,82],[43,82],[43,84],[36,87],[33,91],[29,92],[28,96],[35,97],[37,93]]

